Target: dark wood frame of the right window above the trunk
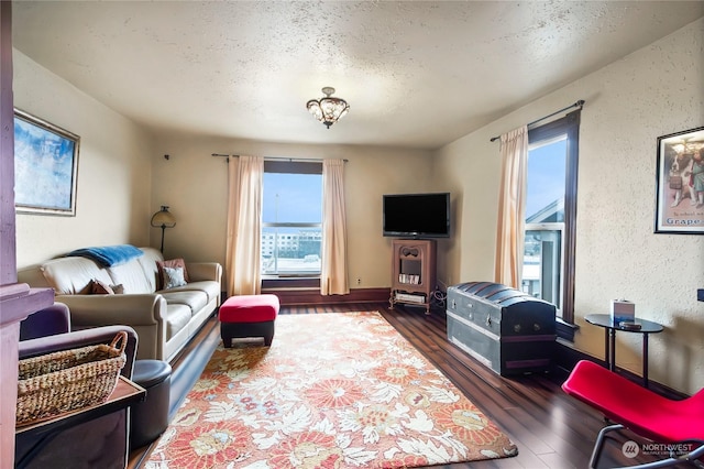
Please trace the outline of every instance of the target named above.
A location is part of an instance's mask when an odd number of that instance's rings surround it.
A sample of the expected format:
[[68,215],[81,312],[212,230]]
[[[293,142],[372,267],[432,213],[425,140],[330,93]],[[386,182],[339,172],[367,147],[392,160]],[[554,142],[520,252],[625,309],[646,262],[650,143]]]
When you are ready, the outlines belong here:
[[[564,232],[562,240],[562,318],[558,320],[558,336],[574,339],[574,272],[576,252],[576,200],[580,157],[581,109],[560,119],[528,130],[528,145],[566,137],[564,182]],[[524,233],[525,236],[525,233]],[[562,324],[560,324],[562,323]]]

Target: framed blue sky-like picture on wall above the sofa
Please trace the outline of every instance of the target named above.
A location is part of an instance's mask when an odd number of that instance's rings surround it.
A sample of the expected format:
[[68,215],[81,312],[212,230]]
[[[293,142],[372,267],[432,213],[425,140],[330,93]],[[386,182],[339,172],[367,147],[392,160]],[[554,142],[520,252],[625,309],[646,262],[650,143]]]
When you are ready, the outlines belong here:
[[18,214],[76,215],[80,138],[14,109],[14,205]]

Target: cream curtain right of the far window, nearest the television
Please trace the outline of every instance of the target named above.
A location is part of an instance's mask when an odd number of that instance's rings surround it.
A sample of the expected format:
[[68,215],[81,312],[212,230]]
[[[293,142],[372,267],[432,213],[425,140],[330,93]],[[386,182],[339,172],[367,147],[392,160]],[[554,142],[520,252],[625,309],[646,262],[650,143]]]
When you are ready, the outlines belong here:
[[321,295],[346,295],[348,233],[344,210],[344,160],[322,161]]

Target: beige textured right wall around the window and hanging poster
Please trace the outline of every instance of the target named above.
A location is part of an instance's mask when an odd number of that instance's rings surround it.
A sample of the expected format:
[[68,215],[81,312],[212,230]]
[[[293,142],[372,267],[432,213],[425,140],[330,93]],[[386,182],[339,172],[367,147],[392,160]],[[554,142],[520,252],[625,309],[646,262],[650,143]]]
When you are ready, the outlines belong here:
[[[586,100],[580,130],[574,347],[603,358],[604,331],[584,316],[628,298],[664,325],[650,338],[650,378],[693,393],[704,388],[704,237],[654,234],[660,135],[704,124],[704,20],[565,86],[438,152],[437,177],[462,216],[441,277],[493,280],[501,162],[490,138]],[[641,372],[640,335],[617,336],[617,363]]]

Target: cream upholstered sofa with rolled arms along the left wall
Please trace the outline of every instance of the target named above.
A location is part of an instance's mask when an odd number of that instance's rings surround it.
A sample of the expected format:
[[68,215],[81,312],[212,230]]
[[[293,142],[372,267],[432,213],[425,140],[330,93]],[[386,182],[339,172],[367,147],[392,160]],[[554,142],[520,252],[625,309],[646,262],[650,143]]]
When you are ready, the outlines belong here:
[[[142,255],[110,268],[84,257],[52,259],[20,270],[18,281],[54,288],[73,328],[128,325],[139,336],[138,359],[172,361],[220,306],[222,266],[186,262],[189,282],[158,290],[157,261],[164,258],[156,249],[139,249]],[[98,282],[122,285],[123,293],[94,294]]]

